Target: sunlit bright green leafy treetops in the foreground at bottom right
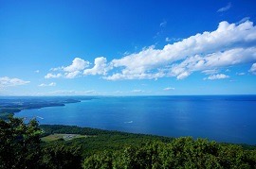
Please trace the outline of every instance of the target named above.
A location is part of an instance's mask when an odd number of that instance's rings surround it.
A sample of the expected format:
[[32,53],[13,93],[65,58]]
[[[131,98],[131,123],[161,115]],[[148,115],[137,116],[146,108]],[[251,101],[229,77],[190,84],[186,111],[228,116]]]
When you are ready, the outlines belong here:
[[255,168],[256,152],[191,137],[101,152],[86,158],[83,168]]

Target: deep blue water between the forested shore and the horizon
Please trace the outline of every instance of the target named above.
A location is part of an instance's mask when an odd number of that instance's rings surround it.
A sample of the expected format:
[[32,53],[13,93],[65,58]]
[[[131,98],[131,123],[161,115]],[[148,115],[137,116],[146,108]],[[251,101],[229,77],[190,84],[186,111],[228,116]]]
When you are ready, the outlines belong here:
[[40,124],[256,144],[256,95],[97,97],[16,116],[37,117]]

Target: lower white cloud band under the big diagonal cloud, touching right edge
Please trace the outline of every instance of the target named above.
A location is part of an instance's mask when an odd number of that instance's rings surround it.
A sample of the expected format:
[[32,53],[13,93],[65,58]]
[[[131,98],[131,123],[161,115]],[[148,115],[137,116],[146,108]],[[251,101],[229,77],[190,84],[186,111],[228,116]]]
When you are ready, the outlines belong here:
[[[184,77],[190,76],[192,72],[203,71],[203,73],[210,73],[210,71],[205,72],[208,69],[216,69],[221,67],[227,67],[230,65],[236,65],[240,63],[250,62],[256,59],[256,48],[235,48],[230,49],[225,52],[216,52],[206,56],[194,56],[189,57],[179,64],[174,64],[170,71],[171,76],[176,76],[177,79],[182,79]],[[212,71],[211,73],[213,73]],[[216,70],[215,73],[218,71]]]

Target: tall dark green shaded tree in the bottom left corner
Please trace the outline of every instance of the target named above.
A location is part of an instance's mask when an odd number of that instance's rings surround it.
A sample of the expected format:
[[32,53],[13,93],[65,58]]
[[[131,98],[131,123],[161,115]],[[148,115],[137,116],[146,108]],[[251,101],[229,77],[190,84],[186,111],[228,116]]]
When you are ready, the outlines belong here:
[[0,168],[38,168],[40,134],[36,120],[27,124],[13,117],[0,120]]

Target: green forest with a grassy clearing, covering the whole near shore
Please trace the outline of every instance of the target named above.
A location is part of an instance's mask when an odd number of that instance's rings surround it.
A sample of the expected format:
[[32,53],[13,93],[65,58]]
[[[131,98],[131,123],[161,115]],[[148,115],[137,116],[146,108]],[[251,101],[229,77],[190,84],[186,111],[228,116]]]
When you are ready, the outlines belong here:
[[0,168],[256,168],[256,147],[9,117],[0,120]]

